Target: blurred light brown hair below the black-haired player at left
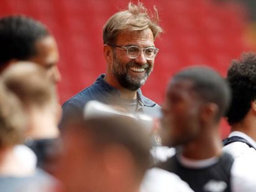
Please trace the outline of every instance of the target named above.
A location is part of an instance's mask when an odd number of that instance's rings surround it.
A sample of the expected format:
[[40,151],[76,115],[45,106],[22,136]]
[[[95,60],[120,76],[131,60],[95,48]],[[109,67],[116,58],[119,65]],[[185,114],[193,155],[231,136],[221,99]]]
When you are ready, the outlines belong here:
[[33,62],[17,62],[4,70],[2,80],[25,107],[40,108],[56,101],[54,84],[41,65]]

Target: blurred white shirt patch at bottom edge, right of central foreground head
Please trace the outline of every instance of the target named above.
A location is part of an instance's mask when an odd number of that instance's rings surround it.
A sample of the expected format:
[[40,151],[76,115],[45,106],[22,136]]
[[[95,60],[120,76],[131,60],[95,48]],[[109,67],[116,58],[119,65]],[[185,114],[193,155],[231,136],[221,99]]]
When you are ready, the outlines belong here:
[[140,192],[192,192],[179,176],[159,168],[149,169],[143,179]]

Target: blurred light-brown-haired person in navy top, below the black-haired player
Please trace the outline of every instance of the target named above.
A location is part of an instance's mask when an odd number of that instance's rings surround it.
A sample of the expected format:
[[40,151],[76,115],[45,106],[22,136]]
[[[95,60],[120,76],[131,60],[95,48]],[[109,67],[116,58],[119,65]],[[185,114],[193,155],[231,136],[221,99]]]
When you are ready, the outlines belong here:
[[40,65],[17,62],[1,74],[6,88],[22,102],[28,116],[25,144],[38,157],[43,169],[48,155],[54,154],[54,141],[59,136],[58,99],[53,81]]

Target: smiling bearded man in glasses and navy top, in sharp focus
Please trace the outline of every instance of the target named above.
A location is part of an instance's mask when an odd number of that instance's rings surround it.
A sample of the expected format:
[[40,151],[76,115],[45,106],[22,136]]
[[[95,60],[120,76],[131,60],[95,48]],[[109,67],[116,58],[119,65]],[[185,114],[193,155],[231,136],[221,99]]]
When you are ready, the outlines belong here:
[[154,44],[162,32],[157,22],[157,10],[151,14],[141,2],[129,3],[127,10],[116,12],[108,19],[103,28],[106,73],[64,103],[62,121],[81,112],[90,100],[159,117],[160,106],[140,90],[153,70],[159,51]]

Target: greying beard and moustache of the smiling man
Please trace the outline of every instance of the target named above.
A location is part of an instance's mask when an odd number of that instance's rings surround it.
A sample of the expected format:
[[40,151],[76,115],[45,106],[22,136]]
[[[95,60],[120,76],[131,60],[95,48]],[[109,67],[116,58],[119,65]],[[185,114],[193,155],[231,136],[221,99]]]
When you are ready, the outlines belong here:
[[[145,75],[142,78],[131,77],[128,73],[129,67],[145,68]],[[134,60],[130,61],[127,64],[123,64],[116,58],[116,54],[114,54],[112,73],[114,74],[120,85],[127,90],[138,90],[142,85],[145,84],[152,70],[152,65],[149,65],[148,63],[145,65],[136,64]]]

